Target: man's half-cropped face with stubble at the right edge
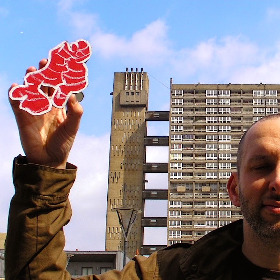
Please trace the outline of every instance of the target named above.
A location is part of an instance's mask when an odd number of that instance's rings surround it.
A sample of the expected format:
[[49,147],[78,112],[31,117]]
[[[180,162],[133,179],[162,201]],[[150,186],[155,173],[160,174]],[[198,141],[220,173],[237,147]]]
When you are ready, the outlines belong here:
[[238,177],[245,221],[262,238],[280,234],[280,119],[255,124],[245,138]]

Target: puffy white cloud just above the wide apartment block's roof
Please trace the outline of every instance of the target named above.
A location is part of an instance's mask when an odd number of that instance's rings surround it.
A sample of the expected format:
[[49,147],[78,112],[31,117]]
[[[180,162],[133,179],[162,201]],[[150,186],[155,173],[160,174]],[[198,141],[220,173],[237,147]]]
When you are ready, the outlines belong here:
[[193,48],[181,49],[171,58],[176,79],[196,76],[201,83],[232,82],[234,71],[254,65],[264,57],[258,47],[246,38],[226,36],[211,38]]

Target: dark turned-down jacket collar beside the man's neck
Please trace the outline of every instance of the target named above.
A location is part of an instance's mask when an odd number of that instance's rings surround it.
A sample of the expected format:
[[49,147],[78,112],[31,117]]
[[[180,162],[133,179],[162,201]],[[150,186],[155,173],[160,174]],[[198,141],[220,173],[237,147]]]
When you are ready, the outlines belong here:
[[186,279],[226,279],[233,255],[243,243],[243,220],[222,226],[200,238],[180,261]]

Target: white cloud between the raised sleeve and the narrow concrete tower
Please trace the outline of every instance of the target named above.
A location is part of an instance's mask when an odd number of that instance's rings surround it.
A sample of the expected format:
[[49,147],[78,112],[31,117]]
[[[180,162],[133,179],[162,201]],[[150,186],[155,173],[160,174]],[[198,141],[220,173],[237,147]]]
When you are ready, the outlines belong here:
[[78,166],[70,193],[72,219],[65,227],[67,250],[104,250],[110,135],[78,134],[69,161]]

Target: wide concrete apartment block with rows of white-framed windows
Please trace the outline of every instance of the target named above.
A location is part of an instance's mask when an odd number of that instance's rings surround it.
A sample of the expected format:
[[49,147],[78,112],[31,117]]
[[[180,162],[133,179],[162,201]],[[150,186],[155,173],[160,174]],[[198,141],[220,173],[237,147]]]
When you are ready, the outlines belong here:
[[242,218],[227,193],[238,143],[280,104],[280,85],[170,84],[168,245]]

